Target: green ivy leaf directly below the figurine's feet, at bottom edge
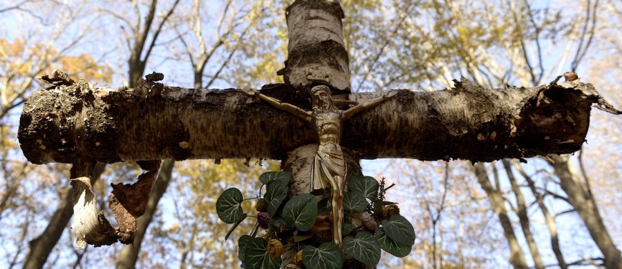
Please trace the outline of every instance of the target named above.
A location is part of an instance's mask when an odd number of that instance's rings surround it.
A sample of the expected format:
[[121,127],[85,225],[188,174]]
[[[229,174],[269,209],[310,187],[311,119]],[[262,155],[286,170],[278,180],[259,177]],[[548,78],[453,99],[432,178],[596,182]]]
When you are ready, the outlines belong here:
[[306,268],[341,269],[343,253],[332,242],[323,243],[319,248],[307,245],[303,249],[303,264]]

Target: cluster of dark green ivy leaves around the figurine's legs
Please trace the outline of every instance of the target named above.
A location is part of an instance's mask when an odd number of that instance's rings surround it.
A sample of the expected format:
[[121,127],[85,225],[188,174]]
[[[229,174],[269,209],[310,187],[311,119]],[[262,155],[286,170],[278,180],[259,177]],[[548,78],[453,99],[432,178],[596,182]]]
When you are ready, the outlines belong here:
[[[259,177],[262,186],[256,197],[256,228],[251,235],[238,239],[238,257],[243,268],[280,268],[281,255],[290,248],[296,250],[299,265],[326,269],[341,268],[344,253],[366,266],[376,266],[381,250],[395,257],[406,257],[411,252],[415,230],[408,219],[399,215],[397,204],[385,201],[386,190],[391,186],[385,188],[384,178],[379,183],[373,177],[355,177],[348,183],[344,210],[366,210],[380,226],[369,231],[346,219],[341,228],[345,237],[343,248],[333,243],[330,236],[327,199],[318,201],[311,194],[288,197],[291,180],[290,172],[265,172]],[[248,217],[241,206],[245,200],[248,199],[238,188],[229,188],[218,197],[218,218],[233,224],[225,239]],[[260,237],[256,236],[258,228],[265,230]]]

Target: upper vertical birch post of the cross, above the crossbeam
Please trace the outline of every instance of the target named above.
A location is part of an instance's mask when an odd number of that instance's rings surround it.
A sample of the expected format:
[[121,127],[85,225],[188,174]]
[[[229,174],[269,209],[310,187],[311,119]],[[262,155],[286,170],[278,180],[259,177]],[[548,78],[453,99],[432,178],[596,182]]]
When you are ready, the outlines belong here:
[[339,1],[299,0],[285,11],[288,60],[277,74],[294,87],[330,85],[350,92],[348,50],[343,43]]

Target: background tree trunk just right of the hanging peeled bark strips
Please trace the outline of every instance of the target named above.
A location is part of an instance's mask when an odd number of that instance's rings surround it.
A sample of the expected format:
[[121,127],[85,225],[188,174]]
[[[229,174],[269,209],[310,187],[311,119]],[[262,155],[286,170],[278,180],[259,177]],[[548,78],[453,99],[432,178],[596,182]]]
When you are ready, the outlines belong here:
[[149,223],[151,223],[153,215],[156,214],[158,202],[162,198],[162,195],[164,195],[164,192],[167,190],[167,187],[171,182],[173,166],[175,166],[175,161],[173,159],[167,159],[162,162],[162,168],[158,174],[158,179],[156,180],[153,189],[151,189],[151,194],[149,195],[147,209],[145,210],[144,215],[138,218],[138,223],[136,223],[134,242],[131,245],[124,246],[121,250],[121,253],[117,259],[117,268],[135,268],[142,239],[144,239],[144,235],[147,233],[147,228],[149,228]]

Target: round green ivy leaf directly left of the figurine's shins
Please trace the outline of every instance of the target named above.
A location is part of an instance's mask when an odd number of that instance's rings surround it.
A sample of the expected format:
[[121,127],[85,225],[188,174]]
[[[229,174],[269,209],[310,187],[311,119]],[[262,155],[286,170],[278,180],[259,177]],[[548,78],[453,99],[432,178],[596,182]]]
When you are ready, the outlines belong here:
[[308,193],[294,196],[283,208],[283,219],[300,231],[312,228],[316,218],[317,199]]

